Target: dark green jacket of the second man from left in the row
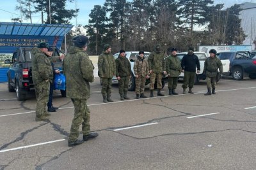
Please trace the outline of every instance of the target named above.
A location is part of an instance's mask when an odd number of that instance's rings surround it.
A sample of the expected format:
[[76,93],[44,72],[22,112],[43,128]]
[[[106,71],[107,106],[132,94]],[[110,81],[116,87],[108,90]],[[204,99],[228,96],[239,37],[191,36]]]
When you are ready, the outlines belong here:
[[131,63],[126,57],[118,55],[116,59],[116,76],[125,77],[131,76]]

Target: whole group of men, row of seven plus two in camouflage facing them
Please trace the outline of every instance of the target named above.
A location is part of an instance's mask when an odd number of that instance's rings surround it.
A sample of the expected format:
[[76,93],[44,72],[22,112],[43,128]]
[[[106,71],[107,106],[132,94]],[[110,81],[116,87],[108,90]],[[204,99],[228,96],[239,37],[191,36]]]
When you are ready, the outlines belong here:
[[[33,82],[36,91],[36,121],[49,120],[49,110],[45,109],[49,101],[50,87],[53,81],[52,62],[63,60],[63,73],[66,76],[67,97],[70,97],[74,104],[74,118],[68,135],[68,146],[80,145],[88,139],[98,136],[97,132],[90,132],[90,110],[87,100],[90,97],[90,82],[94,81],[92,61],[86,53],[89,43],[87,36],[76,36],[72,38],[73,46],[70,46],[67,55],[51,57],[48,53],[47,43],[38,43],[33,48],[35,55],[32,64]],[[200,71],[198,57],[189,48],[188,55],[179,60],[177,48],[168,48],[168,57],[164,57],[161,45],[156,45],[155,50],[145,59],[144,52],[140,51],[134,62],[134,74],[136,78],[136,99],[147,98],[144,95],[145,81],[150,78],[150,97],[154,97],[154,84],[157,80],[157,96],[164,96],[161,93],[163,75],[168,75],[169,95],[177,95],[177,81],[179,74],[184,72],[183,94],[189,87],[189,93],[193,94],[192,88],[197,71]],[[166,58],[166,59],[165,59]],[[113,76],[118,80],[120,99],[130,99],[127,96],[129,80],[132,76],[131,63],[125,57],[125,51],[120,50],[118,58],[115,59],[111,53],[111,46],[104,45],[103,52],[98,60],[99,77],[102,80],[103,102],[113,102],[111,99],[111,83]],[[223,71],[220,60],[216,57],[216,50],[210,50],[210,57],[205,60],[204,74],[207,77],[208,92],[205,95],[215,94],[215,78],[220,69]],[[212,91],[211,91],[212,87]],[[51,107],[52,104],[50,104]],[[50,107],[50,108],[51,108]],[[79,126],[82,124],[83,139],[79,139]]]

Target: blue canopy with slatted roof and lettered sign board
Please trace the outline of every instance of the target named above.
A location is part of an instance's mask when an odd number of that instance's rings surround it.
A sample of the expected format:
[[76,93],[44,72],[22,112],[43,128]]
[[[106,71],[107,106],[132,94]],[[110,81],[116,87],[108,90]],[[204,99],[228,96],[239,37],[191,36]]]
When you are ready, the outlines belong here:
[[12,53],[17,46],[35,46],[41,41],[60,48],[69,24],[24,24],[0,22],[0,53]]

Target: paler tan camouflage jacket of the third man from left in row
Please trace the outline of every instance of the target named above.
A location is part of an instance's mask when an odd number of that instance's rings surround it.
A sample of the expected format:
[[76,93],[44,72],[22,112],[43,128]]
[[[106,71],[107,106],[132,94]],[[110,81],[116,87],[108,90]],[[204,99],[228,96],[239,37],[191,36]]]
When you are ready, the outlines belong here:
[[145,59],[145,57],[143,57],[143,59],[141,59],[140,56],[137,57],[134,62],[133,70],[135,75],[141,77],[149,75],[148,61]]

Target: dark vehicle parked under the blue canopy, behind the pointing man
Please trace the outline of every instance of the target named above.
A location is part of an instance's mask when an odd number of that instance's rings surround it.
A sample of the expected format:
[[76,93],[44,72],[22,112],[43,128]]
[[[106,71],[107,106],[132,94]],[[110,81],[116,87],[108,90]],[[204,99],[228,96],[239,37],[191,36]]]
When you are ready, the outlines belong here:
[[[8,91],[16,92],[18,101],[26,100],[26,94],[35,91],[32,80],[32,59],[31,50],[35,46],[20,46],[13,52],[12,60],[5,60],[5,64],[12,64],[7,71]],[[52,46],[52,56],[60,56],[62,53],[56,46]],[[54,62],[54,68],[62,70],[62,62]],[[66,90],[60,90],[61,96],[66,97]]]

